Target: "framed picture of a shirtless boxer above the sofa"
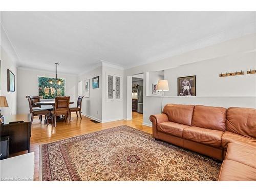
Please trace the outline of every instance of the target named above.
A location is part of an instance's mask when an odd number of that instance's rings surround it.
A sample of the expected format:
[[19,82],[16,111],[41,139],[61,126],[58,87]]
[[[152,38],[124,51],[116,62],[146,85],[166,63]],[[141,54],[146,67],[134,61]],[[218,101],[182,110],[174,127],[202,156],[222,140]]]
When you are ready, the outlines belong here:
[[178,96],[197,96],[196,77],[178,77]]

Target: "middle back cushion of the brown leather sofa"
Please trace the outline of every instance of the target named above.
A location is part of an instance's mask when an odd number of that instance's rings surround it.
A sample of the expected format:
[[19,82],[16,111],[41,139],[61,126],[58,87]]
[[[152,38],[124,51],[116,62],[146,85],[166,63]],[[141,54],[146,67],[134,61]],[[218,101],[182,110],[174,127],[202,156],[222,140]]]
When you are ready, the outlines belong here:
[[192,125],[211,130],[226,130],[226,109],[219,106],[196,105]]

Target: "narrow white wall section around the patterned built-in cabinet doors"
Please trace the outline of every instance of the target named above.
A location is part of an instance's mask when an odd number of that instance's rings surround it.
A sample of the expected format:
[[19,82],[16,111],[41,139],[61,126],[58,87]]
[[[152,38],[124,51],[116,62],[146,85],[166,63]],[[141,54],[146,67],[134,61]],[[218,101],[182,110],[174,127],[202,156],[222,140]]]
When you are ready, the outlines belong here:
[[[108,67],[105,63],[102,63],[102,122],[116,121],[123,119],[123,70],[116,69],[113,67]],[[120,82],[120,97],[121,101],[106,102],[106,82],[105,82],[105,73],[110,73],[114,75],[121,75]]]

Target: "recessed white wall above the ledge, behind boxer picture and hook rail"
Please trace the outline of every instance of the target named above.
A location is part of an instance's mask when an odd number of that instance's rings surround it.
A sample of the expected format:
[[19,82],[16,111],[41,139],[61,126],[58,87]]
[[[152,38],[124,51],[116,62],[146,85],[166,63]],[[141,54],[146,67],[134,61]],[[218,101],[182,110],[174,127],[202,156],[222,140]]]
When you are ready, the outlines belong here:
[[254,69],[255,54],[255,51],[236,53],[164,70],[164,78],[169,83],[169,91],[164,92],[164,95],[177,96],[178,77],[197,75],[197,96],[255,96],[255,75],[219,77],[221,72]]

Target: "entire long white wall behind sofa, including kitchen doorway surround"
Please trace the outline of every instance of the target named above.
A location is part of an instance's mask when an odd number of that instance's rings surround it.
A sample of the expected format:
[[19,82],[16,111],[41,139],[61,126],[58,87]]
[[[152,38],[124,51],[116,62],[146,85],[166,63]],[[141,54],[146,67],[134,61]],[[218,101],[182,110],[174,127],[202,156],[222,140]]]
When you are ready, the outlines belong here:
[[[169,83],[170,94],[172,95],[177,94],[178,76],[197,75],[199,78],[197,78],[197,97],[164,97],[164,104],[187,103],[224,106],[226,108],[229,106],[256,108],[256,75],[218,77],[221,72],[225,71],[228,72],[230,70],[234,71],[241,69],[247,71],[250,68],[255,69],[255,42],[256,34],[254,33],[228,40],[217,45],[148,63],[147,65],[124,70],[124,118],[130,117],[130,109],[127,106],[130,106],[131,98],[130,94],[127,95],[127,79],[133,74],[144,73],[146,76],[146,72],[165,69],[170,70],[168,80],[171,81]],[[174,77],[172,77],[172,73],[174,73]],[[209,78],[212,78],[210,82]],[[147,76],[144,79],[147,79]],[[205,88],[207,82],[212,84],[209,85],[212,86],[211,88]],[[145,81],[144,86],[146,86]],[[144,89],[143,98],[143,123],[151,125],[149,116],[151,114],[160,113],[161,98],[147,97],[145,93],[146,89]]]

